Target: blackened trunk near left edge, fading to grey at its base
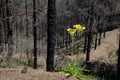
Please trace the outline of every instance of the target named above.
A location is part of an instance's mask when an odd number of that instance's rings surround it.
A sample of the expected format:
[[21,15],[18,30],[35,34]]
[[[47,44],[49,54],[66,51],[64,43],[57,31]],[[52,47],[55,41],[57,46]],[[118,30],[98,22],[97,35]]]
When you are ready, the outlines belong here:
[[5,53],[4,56],[6,57],[8,64],[12,57],[13,53],[13,34],[12,28],[10,28],[10,10],[9,10],[9,0],[2,0],[2,18],[3,18],[3,25],[4,25],[4,41],[5,41]]

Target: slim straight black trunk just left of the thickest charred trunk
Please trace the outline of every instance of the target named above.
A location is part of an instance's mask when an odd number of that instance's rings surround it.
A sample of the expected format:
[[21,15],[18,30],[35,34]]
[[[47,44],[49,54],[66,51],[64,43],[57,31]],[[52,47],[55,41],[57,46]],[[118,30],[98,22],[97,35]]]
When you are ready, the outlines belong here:
[[36,0],[33,0],[33,36],[34,36],[34,69],[37,69],[37,29],[36,29]]

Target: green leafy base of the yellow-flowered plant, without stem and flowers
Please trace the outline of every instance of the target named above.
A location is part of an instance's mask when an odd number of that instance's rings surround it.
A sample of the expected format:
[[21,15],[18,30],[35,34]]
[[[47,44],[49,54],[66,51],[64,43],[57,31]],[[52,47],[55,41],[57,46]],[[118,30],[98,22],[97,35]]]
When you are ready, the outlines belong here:
[[84,71],[89,72],[89,70],[87,70],[85,68],[81,68],[79,66],[79,61],[78,60],[69,61],[67,58],[65,60],[66,60],[65,68],[58,69],[57,70],[58,73],[64,74],[66,76],[74,76],[78,79],[90,77],[90,76],[87,76],[87,75],[83,74]]

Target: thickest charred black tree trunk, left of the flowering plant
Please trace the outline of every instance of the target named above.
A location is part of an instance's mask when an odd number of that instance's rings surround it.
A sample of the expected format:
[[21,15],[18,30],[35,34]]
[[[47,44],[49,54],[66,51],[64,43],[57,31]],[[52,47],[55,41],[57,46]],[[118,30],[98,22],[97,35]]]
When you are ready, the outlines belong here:
[[55,30],[56,30],[56,0],[48,0],[48,13],[47,13],[47,60],[46,70],[54,71],[54,50],[55,50]]

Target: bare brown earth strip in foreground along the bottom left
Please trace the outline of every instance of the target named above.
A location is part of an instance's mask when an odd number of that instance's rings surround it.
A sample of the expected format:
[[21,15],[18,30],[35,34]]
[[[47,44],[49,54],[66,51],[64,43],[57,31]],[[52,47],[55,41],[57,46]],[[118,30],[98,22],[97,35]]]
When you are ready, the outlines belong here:
[[29,69],[26,74],[22,69],[0,69],[0,80],[78,80],[74,77],[67,78],[58,73]]

